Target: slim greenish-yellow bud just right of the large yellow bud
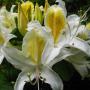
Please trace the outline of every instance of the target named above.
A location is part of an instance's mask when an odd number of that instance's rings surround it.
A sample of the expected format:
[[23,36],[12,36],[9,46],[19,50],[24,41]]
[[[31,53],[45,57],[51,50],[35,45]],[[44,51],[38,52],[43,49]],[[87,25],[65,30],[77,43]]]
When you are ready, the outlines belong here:
[[43,14],[37,3],[35,6],[35,20],[38,20],[41,24],[43,23]]

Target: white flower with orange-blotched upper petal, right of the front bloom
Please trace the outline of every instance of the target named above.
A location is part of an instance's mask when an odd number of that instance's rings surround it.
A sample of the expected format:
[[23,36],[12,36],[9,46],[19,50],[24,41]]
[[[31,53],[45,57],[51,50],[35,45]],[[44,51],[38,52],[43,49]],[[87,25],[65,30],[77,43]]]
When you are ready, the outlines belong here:
[[[69,53],[66,53],[64,58],[60,57],[60,54],[65,47],[77,48],[86,53],[88,56],[90,55],[89,44],[83,39],[77,37],[78,34],[85,31],[85,26],[80,25],[79,16],[73,14],[66,18],[62,7],[54,5],[47,11],[45,17],[45,27],[51,32],[55,45],[48,58],[49,60],[47,60],[47,63],[51,62],[52,65],[50,64],[50,66],[53,66],[55,62],[57,63],[68,56]],[[72,54],[74,54],[74,52]],[[55,57],[58,57],[59,59],[54,61],[53,59]]]

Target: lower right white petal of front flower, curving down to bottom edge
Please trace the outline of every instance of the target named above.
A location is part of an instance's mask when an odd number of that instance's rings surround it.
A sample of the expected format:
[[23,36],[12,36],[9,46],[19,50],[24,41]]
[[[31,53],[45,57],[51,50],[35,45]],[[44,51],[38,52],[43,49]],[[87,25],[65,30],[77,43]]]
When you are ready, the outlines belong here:
[[50,68],[43,67],[41,76],[46,79],[46,83],[51,85],[53,90],[63,90],[63,82],[60,77]]

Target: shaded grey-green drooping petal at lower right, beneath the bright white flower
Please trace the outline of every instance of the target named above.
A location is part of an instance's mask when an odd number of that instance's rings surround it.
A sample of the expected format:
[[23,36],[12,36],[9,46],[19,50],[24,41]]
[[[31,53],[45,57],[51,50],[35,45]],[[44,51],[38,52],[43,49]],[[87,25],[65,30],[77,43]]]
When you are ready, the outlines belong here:
[[67,58],[67,61],[72,63],[72,65],[80,73],[82,78],[86,77],[88,74],[87,65],[89,64],[89,61],[86,60],[86,56],[87,55],[85,53],[80,51],[77,54]]

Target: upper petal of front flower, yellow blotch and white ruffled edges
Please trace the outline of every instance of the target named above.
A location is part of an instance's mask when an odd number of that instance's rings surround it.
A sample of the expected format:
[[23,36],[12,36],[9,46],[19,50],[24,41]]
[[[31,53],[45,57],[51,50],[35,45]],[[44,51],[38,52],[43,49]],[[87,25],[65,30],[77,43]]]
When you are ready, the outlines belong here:
[[[45,27],[42,27],[42,26],[38,27],[38,24],[40,23],[32,22],[31,24],[29,24],[28,30],[29,29],[30,30],[29,32],[27,32],[27,34],[23,39],[22,50],[27,57],[33,54],[32,57],[34,58],[34,60],[38,60],[37,57],[39,55],[38,61],[41,61],[40,63],[45,63],[47,60],[47,57],[50,55],[51,49],[54,47],[54,41],[51,33],[48,32]],[[33,27],[32,26],[30,27],[30,25],[33,25]],[[36,36],[39,37],[42,40],[42,42],[38,41],[39,39],[37,39]],[[30,46],[31,44],[32,46]],[[30,47],[32,47],[33,49],[30,50]],[[39,52],[41,50],[42,52]]]

